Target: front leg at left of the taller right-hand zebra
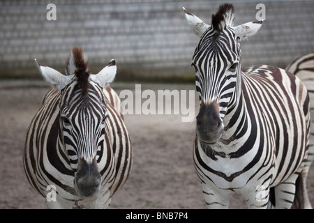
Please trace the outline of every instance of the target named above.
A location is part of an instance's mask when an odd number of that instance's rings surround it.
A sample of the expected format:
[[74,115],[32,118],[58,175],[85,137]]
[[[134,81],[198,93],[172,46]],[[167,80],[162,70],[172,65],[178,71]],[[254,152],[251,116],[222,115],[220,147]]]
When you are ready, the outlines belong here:
[[221,190],[219,193],[212,190],[211,187],[202,183],[203,194],[207,204],[207,208],[210,209],[227,209],[229,208],[229,193]]

